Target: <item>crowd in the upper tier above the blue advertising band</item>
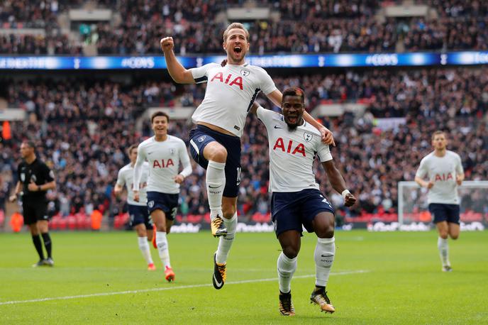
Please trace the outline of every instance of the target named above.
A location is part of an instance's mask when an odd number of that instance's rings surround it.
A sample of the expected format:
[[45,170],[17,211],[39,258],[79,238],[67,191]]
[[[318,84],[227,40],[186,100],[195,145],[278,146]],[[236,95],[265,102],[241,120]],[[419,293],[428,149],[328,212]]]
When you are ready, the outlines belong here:
[[[45,35],[4,34],[0,54],[78,55],[82,43],[99,55],[160,54],[162,35],[173,35],[175,52],[222,53],[226,21],[218,12],[242,1],[157,0],[99,1],[113,9],[120,23],[79,25],[79,40],[63,35],[58,15],[83,1],[4,1],[0,23],[9,28],[43,28]],[[488,5],[484,1],[428,1],[437,18],[377,19],[381,1],[257,1],[280,14],[278,20],[248,23],[251,53],[394,52],[418,50],[486,50]],[[218,22],[216,22],[218,21]],[[78,26],[78,25],[76,25]],[[397,45],[403,46],[397,46]]]

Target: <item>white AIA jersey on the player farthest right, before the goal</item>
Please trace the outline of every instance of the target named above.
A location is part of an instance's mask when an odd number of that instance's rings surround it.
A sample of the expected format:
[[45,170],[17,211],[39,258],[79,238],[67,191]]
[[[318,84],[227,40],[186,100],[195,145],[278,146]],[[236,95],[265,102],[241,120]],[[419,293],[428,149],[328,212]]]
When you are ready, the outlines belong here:
[[459,204],[456,175],[463,172],[460,156],[446,150],[444,157],[437,157],[435,152],[426,155],[420,162],[416,177],[428,177],[434,183],[427,194],[429,204]]

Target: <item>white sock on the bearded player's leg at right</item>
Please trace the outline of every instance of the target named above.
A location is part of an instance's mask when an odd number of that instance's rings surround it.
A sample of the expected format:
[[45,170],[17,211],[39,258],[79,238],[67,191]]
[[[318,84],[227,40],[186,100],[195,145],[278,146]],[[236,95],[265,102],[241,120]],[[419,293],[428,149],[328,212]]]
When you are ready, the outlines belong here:
[[315,285],[318,287],[325,287],[327,285],[328,276],[331,274],[332,264],[334,263],[334,255],[336,255],[336,238],[317,238],[317,245],[315,246],[314,260],[315,260]]

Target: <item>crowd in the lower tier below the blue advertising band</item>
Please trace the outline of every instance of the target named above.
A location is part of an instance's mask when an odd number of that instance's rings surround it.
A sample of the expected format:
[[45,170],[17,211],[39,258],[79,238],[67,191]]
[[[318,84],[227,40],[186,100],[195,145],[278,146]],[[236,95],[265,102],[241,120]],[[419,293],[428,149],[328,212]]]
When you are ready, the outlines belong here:
[[[332,153],[350,189],[360,203],[348,211],[355,216],[377,211],[396,211],[397,182],[413,180],[417,163],[431,150],[430,136],[437,128],[448,131],[450,148],[460,153],[467,180],[486,179],[488,137],[482,116],[488,107],[487,68],[434,70],[345,71],[335,75],[273,76],[277,87],[298,85],[305,89],[307,106],[328,102],[368,99],[362,116],[323,116],[335,133]],[[19,141],[29,137],[38,153],[55,170],[57,190],[52,194],[51,213],[67,215],[93,209],[117,214],[123,200],[113,196],[120,167],[128,162],[126,148],[150,136],[149,124],[142,131],[135,120],[148,106],[196,106],[203,99],[204,85],[175,86],[167,81],[70,82],[51,79],[9,82],[10,106],[28,113],[27,123],[14,123],[13,139],[0,144],[0,170],[4,184],[12,188],[19,161]],[[442,89],[442,91],[440,91]],[[259,99],[265,104],[265,99]],[[265,104],[272,107],[270,104]],[[404,117],[396,128],[379,128],[375,119]],[[187,141],[188,121],[174,121],[170,133]],[[262,124],[248,116],[242,138],[243,158],[239,194],[240,214],[268,211],[267,137]],[[183,215],[204,214],[208,206],[203,186],[204,170],[193,164],[194,173],[182,187]],[[321,167],[316,177],[340,209],[342,198],[334,194]],[[378,172],[379,171],[379,172]],[[5,196],[4,196],[5,197]],[[1,199],[1,197],[0,197]]]

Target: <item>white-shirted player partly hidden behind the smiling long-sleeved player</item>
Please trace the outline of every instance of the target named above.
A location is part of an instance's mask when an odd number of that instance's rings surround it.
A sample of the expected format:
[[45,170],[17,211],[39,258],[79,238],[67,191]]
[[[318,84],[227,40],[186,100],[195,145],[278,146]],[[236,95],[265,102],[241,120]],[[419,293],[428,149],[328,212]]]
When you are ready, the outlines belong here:
[[[139,183],[139,200],[135,202],[133,192],[133,180],[134,180],[134,165],[137,159],[137,145],[131,145],[128,149],[129,159],[131,163],[123,166],[118,171],[117,182],[113,192],[118,196],[123,191],[124,184],[127,189],[127,204],[129,216],[131,216],[131,226],[135,228],[135,232],[138,234],[138,242],[140,252],[143,253],[145,262],[148,264],[148,270],[156,270],[154,266],[153,258],[149,249],[148,241],[153,241],[153,221],[150,219],[147,206],[147,195],[145,187],[148,185],[149,165],[143,163],[142,175]],[[150,231],[148,231],[150,229]]]

